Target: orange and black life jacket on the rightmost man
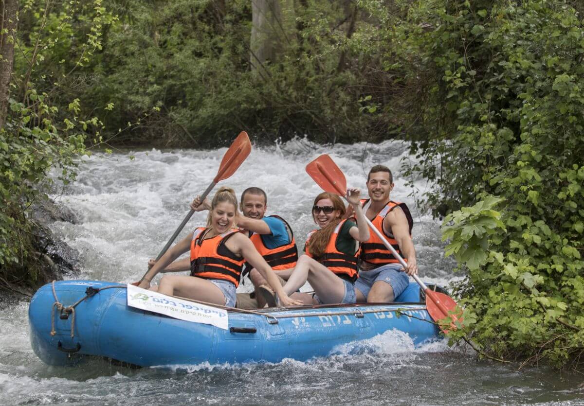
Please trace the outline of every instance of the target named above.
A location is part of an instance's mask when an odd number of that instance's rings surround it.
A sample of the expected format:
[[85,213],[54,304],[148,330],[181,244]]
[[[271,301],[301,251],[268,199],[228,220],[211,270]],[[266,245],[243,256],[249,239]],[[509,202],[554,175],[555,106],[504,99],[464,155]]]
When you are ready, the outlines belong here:
[[[361,205],[365,206],[367,204],[367,202],[369,202],[369,200],[370,199],[361,199]],[[395,248],[395,251],[397,251],[397,253],[401,257],[404,257],[404,255],[402,255],[401,251],[399,251],[398,241],[395,240],[395,238],[392,234],[385,233],[385,231],[383,229],[383,220],[385,219],[385,216],[387,216],[387,213],[391,212],[396,207],[400,207],[404,211],[405,216],[408,219],[409,235],[411,236],[412,235],[412,227],[413,227],[413,218],[412,218],[411,213],[409,212],[408,206],[406,206],[405,203],[394,202],[394,201],[390,200],[385,205],[385,207],[383,209],[381,209],[380,212],[377,213],[375,218],[373,220],[371,220],[371,223],[373,223],[373,225],[376,226],[376,228],[378,230],[380,230],[385,235],[385,237],[387,237],[387,241],[391,244],[392,247]],[[364,243],[361,243],[361,253],[360,253],[359,258],[360,258],[360,260],[370,262],[371,264],[378,264],[378,265],[394,264],[396,262],[399,262],[399,260],[394,257],[394,254],[392,254],[391,251],[388,250],[387,247],[385,247],[385,245],[383,244],[381,239],[374,232],[370,232],[369,240],[365,241]],[[408,262],[408,259],[404,258],[404,261]]]

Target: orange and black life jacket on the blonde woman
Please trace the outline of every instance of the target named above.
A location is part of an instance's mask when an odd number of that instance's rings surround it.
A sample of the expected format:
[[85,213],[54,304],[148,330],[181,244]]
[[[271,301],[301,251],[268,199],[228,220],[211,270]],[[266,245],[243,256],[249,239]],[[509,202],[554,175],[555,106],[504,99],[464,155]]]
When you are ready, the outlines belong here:
[[237,288],[245,260],[232,253],[225,246],[225,241],[240,230],[231,229],[203,239],[207,231],[207,228],[199,227],[193,232],[193,239],[190,241],[190,276],[223,279]]

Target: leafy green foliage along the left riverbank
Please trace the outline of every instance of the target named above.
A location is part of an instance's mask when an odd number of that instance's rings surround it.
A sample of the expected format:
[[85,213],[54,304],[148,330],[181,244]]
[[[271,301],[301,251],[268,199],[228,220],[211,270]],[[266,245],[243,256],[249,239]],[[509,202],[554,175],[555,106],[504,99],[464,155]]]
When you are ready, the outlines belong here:
[[[102,24],[112,22],[101,0],[80,4],[29,1],[19,10],[26,30],[11,34],[15,53],[8,114],[0,129],[0,281],[34,282],[42,252],[29,220],[53,178],[74,177],[86,136],[99,142],[102,123],[84,119],[72,72],[99,50]],[[74,79],[74,81],[79,78]],[[102,107],[103,108],[103,107]],[[107,107],[110,108],[110,107]],[[41,251],[41,252],[39,252]]]

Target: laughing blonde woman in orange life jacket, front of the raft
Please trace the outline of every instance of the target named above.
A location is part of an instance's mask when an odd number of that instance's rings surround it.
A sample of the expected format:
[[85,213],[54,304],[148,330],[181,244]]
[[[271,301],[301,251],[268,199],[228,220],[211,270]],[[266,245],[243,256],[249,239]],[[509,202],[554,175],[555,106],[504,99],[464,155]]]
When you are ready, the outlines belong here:
[[[235,289],[248,261],[276,290],[281,302],[301,304],[284,293],[276,274],[253,246],[247,236],[234,229],[237,198],[230,188],[222,187],[211,202],[207,227],[199,227],[185,239],[166,251],[142,279],[141,288],[150,288],[152,278],[158,272],[179,272],[190,269],[190,276],[165,275],[153,290],[165,295],[188,297],[235,306]],[[190,250],[190,258],[171,264],[181,254]]]

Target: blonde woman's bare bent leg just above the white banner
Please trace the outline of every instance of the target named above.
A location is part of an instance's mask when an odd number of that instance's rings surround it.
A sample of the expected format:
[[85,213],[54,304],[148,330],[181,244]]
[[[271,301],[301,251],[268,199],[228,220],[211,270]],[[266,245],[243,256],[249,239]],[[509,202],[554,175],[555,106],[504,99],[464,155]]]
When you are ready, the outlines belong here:
[[158,285],[158,293],[186,297],[202,302],[225,304],[225,296],[214,283],[196,276],[164,275]]

